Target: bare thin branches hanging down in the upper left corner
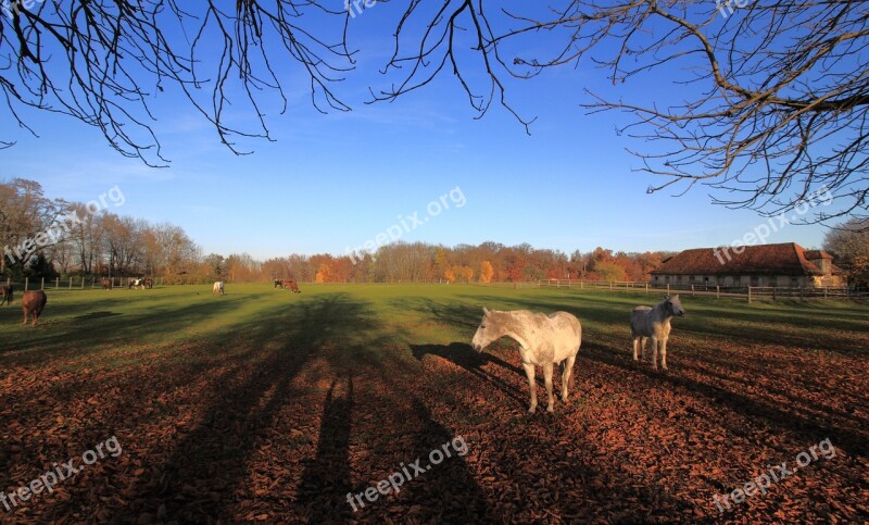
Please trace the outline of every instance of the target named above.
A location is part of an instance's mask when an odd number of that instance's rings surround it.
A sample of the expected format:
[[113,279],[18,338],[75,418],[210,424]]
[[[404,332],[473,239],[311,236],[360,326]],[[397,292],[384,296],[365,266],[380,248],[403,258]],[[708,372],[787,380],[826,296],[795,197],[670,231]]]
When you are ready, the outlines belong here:
[[[307,74],[317,109],[350,109],[330,87],[352,67],[342,33],[331,32],[329,43],[300,24],[347,13],[317,1],[236,0],[232,9],[217,0],[47,0],[2,11],[0,93],[34,134],[21,108],[73,116],[100,129],[121,154],[165,165],[151,107],[175,88],[241,154],[239,137],[270,139],[262,104],[277,95],[286,109],[281,78],[290,61]],[[253,114],[256,125],[239,128],[230,107]]]

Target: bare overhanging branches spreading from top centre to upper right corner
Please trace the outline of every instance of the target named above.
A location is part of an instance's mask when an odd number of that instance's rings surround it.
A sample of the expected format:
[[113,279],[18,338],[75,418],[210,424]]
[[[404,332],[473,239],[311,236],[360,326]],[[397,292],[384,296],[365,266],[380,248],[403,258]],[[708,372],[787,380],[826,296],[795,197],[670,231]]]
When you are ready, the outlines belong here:
[[[439,9],[426,11],[431,4]],[[869,2],[556,0],[545,9],[526,2],[495,11],[484,5],[486,0],[412,2],[386,73],[410,68],[374,99],[393,100],[431,84],[449,61],[478,116],[498,97],[527,128],[529,121],[505,99],[503,78],[531,78],[587,59],[614,85],[672,83],[685,93],[682,103],[659,105],[588,91],[589,113],[618,110],[631,117],[618,133],[645,145],[630,150],[641,171],[664,177],[650,192],[684,192],[702,184],[714,203],[774,215],[829,190],[835,205],[804,222],[869,216]],[[482,64],[477,71],[490,89],[466,82],[475,71],[456,47],[459,21],[475,35],[470,55]],[[537,45],[544,39],[545,46]]]

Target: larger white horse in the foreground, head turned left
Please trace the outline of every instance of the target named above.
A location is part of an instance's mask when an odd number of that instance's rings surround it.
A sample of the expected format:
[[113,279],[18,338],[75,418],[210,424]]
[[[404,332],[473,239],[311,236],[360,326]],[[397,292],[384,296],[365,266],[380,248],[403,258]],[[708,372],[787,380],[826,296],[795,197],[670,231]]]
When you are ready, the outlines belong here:
[[522,368],[528,376],[531,389],[531,408],[537,410],[537,384],[534,366],[543,367],[546,384],[546,411],[554,412],[552,397],[552,370],[555,363],[564,362],[562,373],[562,400],[567,401],[567,386],[574,382],[574,362],[582,343],[582,326],[579,320],[567,312],[555,312],[551,315],[532,313],[526,310],[499,312],[482,309],[483,316],[471,346],[478,352],[490,342],[503,336],[511,337],[521,345]]

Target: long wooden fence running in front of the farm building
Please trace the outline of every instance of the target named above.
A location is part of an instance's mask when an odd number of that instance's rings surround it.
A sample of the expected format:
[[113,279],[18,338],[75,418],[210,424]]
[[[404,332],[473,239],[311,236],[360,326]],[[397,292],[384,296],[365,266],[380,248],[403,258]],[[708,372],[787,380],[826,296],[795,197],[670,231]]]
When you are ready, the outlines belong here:
[[748,302],[754,299],[860,299],[869,298],[869,292],[854,291],[848,288],[784,288],[772,286],[723,287],[709,285],[666,285],[653,286],[639,282],[603,282],[603,280],[576,280],[576,279],[541,279],[539,287],[576,288],[580,290],[609,290],[609,291],[678,291],[692,296],[744,297]]

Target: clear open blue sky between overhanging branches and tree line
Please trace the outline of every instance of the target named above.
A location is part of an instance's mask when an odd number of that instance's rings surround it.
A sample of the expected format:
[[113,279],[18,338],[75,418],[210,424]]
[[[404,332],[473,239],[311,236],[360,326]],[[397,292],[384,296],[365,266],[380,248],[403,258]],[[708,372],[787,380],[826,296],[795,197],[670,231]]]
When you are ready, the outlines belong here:
[[[625,151],[644,146],[615,133],[616,113],[587,115],[583,88],[614,96],[664,98],[673,85],[637,83],[615,91],[600,70],[565,67],[530,82],[514,82],[508,97],[536,116],[528,136],[493,104],[475,120],[449,75],[393,103],[366,105],[367,88],[387,82],[388,38],[379,4],[351,21],[358,71],[337,89],[350,113],[314,110],[306,83],[287,80],[289,107],[266,107],[275,142],[243,141],[254,153],[234,155],[216,133],[177,97],[154,100],[154,124],[172,163],[150,168],[112,150],[104,138],[68,117],[23,112],[39,134],[16,130],[0,114],[0,178],[42,184],[49,197],[98,198],[118,186],[125,203],[111,211],[181,226],[204,253],[248,252],[265,259],[290,253],[344,253],[386,232],[401,217],[428,215],[427,207],[461,189],[465,204],[402,232],[401,240],[454,246],[487,240],[536,248],[591,251],[681,250],[729,245],[767,220],[747,210],[710,204],[697,187],[647,195],[662,179],[642,172]],[[289,78],[295,78],[290,76]],[[244,123],[248,115],[231,117]],[[455,193],[454,193],[455,195]],[[788,225],[768,242],[819,247],[826,228]]]

